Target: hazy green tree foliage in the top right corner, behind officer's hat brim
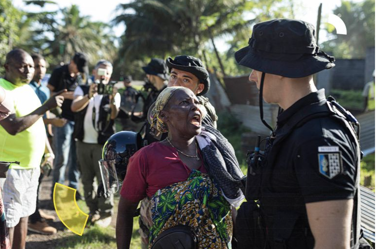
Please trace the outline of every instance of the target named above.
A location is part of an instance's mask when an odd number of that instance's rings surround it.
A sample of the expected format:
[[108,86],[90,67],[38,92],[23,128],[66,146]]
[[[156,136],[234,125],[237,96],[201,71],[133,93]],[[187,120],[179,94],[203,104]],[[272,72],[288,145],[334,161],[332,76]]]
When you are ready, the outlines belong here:
[[[331,35],[333,39],[320,47],[337,58],[364,58],[367,47],[375,46],[375,0],[343,0],[333,14],[344,21],[347,35]],[[327,29],[334,31],[331,24],[327,24]]]

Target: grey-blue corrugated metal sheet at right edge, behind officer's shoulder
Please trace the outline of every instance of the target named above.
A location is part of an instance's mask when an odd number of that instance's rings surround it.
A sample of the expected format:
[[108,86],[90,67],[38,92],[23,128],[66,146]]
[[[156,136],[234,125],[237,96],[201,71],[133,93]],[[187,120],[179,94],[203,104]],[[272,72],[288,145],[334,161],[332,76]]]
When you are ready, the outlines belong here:
[[375,111],[356,116],[360,124],[360,146],[364,155],[375,152]]

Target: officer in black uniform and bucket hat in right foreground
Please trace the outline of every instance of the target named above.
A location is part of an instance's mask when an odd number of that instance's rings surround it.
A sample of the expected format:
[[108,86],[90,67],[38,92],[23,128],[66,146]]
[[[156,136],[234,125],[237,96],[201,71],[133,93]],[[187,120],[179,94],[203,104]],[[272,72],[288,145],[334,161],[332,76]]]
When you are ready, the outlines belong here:
[[[319,50],[314,26],[289,19],[258,23],[235,58],[253,69],[249,80],[260,89],[261,111],[262,98],[282,109],[265,154],[259,156],[256,145],[257,163],[248,166],[248,202],[236,222],[239,248],[358,248],[357,122],[316,89],[312,75],[331,69],[334,58]],[[254,200],[264,214],[264,241],[249,226],[259,208]]]

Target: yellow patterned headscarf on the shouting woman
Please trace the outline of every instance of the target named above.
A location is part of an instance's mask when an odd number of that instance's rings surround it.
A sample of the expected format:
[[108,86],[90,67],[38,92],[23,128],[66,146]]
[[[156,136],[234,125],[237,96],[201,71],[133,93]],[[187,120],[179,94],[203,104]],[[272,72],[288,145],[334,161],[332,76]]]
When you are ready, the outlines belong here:
[[[153,107],[152,111],[150,112],[150,120],[152,122],[152,126],[156,126],[157,130],[159,132],[165,133],[168,131],[167,125],[163,123],[162,119],[160,118],[160,111],[163,110],[163,108],[166,106],[168,101],[171,99],[171,97],[174,95],[174,93],[179,89],[187,89],[183,86],[171,86],[166,87],[159,95],[158,98],[155,101],[155,106]],[[200,106],[199,108],[202,117],[205,116],[206,110],[205,107]]]

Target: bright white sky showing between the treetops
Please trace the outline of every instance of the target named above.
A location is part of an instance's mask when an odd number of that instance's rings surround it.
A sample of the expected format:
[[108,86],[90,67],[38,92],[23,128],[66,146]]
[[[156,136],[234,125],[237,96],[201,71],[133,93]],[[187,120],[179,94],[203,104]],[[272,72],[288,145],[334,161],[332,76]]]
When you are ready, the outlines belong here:
[[[120,3],[127,3],[130,0],[107,0],[107,1],[95,1],[95,0],[55,0],[58,3],[58,7],[64,8],[71,4],[76,4],[79,6],[80,12],[85,16],[91,16],[92,21],[103,21],[110,23],[111,20],[117,16],[119,12],[116,11],[116,7]],[[295,12],[295,18],[303,21],[308,21],[316,26],[317,22],[317,12],[320,3],[322,6],[322,21],[325,21],[325,17],[332,13],[332,10],[336,6],[341,4],[341,0],[294,0],[297,5],[297,11]],[[353,0],[355,2],[360,2],[361,0]],[[41,10],[39,6],[25,5],[22,0],[12,0],[15,7],[29,11],[38,12]],[[44,10],[56,10],[58,8],[56,5],[48,4],[44,7]],[[123,34],[125,26],[123,24],[117,25],[113,28],[114,34],[119,37]],[[326,38],[327,32],[325,30],[320,30],[320,42],[323,42]],[[220,51],[225,51],[227,48],[226,38],[216,39],[216,44]]]

